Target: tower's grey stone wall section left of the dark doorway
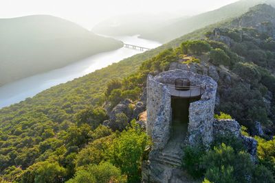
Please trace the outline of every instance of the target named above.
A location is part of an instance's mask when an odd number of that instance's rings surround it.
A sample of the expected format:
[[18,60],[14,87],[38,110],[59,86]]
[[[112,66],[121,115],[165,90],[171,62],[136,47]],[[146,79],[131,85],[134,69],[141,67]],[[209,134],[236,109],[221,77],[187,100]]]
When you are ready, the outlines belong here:
[[163,149],[170,137],[172,123],[170,90],[148,75],[147,79],[147,134],[153,150]]

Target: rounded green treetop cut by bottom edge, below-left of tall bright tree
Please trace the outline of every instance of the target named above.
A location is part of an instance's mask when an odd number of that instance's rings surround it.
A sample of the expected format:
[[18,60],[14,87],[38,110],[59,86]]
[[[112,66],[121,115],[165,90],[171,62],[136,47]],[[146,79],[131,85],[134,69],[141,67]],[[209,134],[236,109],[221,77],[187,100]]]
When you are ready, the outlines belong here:
[[126,182],[126,176],[122,175],[120,169],[113,166],[109,162],[101,162],[100,164],[90,164],[82,167],[76,172],[76,175],[67,183],[123,183]]

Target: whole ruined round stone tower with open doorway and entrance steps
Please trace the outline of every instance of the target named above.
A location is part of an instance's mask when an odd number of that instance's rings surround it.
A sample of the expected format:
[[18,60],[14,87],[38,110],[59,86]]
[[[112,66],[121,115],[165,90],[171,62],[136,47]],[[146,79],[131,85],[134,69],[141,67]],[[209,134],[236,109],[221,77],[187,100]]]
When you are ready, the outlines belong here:
[[169,182],[182,172],[176,167],[184,144],[212,142],[216,92],[217,82],[206,75],[180,69],[148,75],[146,129],[153,146],[142,167],[144,182]]

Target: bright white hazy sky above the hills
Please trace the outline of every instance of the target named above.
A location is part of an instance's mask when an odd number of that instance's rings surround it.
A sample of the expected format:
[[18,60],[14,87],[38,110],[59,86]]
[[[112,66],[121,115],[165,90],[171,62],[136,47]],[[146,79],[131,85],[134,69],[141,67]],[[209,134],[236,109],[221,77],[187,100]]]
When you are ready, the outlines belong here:
[[96,23],[119,14],[197,14],[237,0],[0,0],[0,18],[51,14],[91,29]]

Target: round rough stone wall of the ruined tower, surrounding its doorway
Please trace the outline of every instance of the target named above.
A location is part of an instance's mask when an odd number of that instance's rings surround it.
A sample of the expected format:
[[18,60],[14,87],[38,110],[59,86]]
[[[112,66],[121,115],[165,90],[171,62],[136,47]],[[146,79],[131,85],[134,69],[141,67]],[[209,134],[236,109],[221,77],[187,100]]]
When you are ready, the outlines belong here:
[[[212,141],[214,104],[217,82],[211,77],[190,71],[175,69],[159,73],[147,80],[147,132],[153,141],[153,150],[164,148],[170,137],[172,123],[171,95],[166,83],[175,83],[177,78],[188,78],[192,85],[206,83],[206,88],[199,101],[190,103],[188,140],[189,143],[208,145]],[[184,141],[184,139],[183,139]]]

